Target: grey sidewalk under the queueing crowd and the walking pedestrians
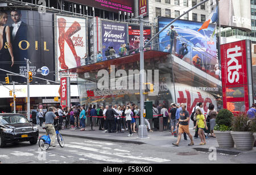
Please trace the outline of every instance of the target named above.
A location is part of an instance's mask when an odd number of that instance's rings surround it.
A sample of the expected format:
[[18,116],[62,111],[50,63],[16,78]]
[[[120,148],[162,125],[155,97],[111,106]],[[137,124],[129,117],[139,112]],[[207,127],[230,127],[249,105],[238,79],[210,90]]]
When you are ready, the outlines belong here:
[[[175,149],[185,149],[185,150],[197,150],[197,151],[203,151],[203,152],[209,152],[210,147],[215,147],[217,149],[217,152],[220,153],[226,153],[229,155],[238,155],[239,153],[256,153],[256,147],[253,148],[253,150],[250,151],[241,151],[236,150],[234,148],[220,148],[218,147],[218,143],[216,138],[210,138],[207,139],[207,144],[201,146],[200,144],[200,138],[194,139],[193,146],[188,146],[190,143],[189,137],[187,136],[188,140],[184,140],[184,137],[182,135],[180,146],[175,147],[172,145],[172,143],[176,143],[177,138],[171,135],[170,131],[154,131],[154,132],[148,132],[149,139],[138,139],[138,134],[133,133],[133,136],[127,136],[129,133],[128,131],[124,131],[124,133],[105,133],[104,131],[98,130],[98,127],[93,127],[94,131],[90,131],[90,127],[86,127],[85,131],[80,131],[76,129],[64,129],[60,130],[61,135],[63,136],[70,136],[74,138],[84,138],[84,139],[92,139],[92,140],[102,140],[102,141],[110,141],[110,142],[121,142],[121,143],[133,143],[133,144],[151,144],[152,146],[157,147],[173,147]],[[195,135],[195,130],[192,128],[189,129],[192,136]],[[39,133],[44,134],[45,130],[42,129],[42,127],[39,127]]]

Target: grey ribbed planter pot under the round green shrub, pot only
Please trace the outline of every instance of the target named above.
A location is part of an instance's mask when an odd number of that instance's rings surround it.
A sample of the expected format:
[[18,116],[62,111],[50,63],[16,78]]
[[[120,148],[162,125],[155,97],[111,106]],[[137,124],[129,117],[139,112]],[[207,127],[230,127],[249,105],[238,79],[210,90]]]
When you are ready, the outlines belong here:
[[221,148],[234,147],[234,141],[230,132],[231,131],[215,131],[214,130],[214,134],[216,135],[218,146],[220,146]]

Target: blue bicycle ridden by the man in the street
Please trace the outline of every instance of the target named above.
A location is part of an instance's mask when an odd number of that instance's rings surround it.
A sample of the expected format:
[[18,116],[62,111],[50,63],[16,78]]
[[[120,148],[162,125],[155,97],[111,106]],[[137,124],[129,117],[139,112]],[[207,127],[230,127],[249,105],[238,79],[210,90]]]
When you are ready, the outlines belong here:
[[[57,141],[60,144],[60,147],[63,148],[64,147],[64,139],[63,136],[59,133],[59,127],[61,127],[60,125],[55,125],[55,131],[56,131],[56,136],[57,136]],[[43,129],[47,129],[47,127],[43,127]],[[51,138],[48,135],[42,135],[40,136],[39,140],[38,140],[38,145],[41,148],[41,150],[46,151],[48,150],[49,146],[51,144]]]

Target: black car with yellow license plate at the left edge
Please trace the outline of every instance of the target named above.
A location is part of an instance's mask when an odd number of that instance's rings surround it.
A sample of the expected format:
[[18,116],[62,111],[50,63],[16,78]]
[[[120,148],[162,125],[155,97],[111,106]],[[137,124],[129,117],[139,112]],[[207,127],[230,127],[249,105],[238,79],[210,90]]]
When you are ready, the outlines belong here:
[[0,147],[6,143],[38,142],[39,129],[30,123],[22,114],[1,113],[0,114]]

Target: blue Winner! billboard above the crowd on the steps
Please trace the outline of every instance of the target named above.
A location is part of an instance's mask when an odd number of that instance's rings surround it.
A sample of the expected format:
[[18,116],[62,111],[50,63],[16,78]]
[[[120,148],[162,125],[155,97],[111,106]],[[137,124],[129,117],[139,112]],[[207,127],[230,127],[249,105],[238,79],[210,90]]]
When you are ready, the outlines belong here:
[[127,45],[127,25],[123,23],[114,23],[101,21],[101,38],[102,38],[102,61],[105,61],[107,58],[105,56],[106,50],[109,47],[113,47],[115,50],[115,58],[120,57],[119,48],[121,45]]

